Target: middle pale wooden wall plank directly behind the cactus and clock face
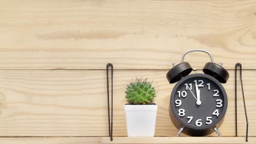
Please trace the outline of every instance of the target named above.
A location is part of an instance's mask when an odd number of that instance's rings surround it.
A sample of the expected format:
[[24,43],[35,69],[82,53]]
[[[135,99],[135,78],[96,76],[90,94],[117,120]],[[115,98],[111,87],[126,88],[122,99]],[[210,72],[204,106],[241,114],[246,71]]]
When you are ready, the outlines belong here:
[[[246,93],[255,93],[255,74],[256,70],[243,74]],[[168,84],[166,70],[114,71],[114,136],[126,136],[125,85],[142,75],[158,84],[155,135],[175,136],[177,129],[168,115],[174,85]],[[224,87],[229,106],[219,130],[223,136],[234,136],[234,71]],[[105,70],[0,70],[0,136],[108,136],[106,90]],[[256,115],[253,108],[248,107],[250,119]],[[251,123],[250,136],[256,136],[255,121]]]

